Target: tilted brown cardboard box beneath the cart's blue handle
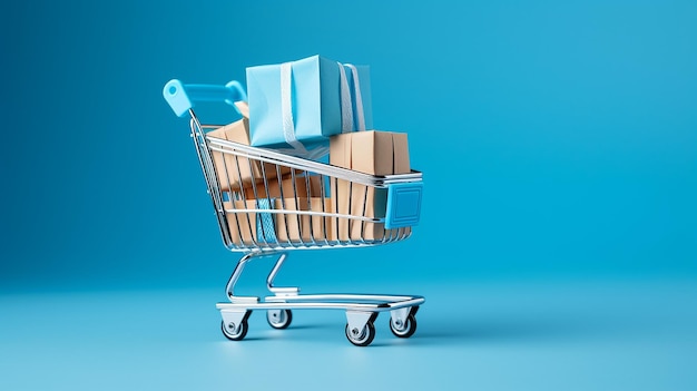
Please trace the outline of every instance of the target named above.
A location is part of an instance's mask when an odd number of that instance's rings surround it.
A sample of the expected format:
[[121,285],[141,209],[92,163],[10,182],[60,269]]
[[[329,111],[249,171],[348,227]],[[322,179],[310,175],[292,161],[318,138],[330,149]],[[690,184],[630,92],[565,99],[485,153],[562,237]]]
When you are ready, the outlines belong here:
[[[243,119],[226,125],[222,128],[209,131],[207,135],[210,137],[222,138],[228,141],[249,145],[249,119],[248,108],[246,104],[236,104],[246,117]],[[220,189],[223,192],[238,190],[239,183],[249,184],[252,178],[256,182],[262,180],[262,163],[258,160],[248,160],[244,157],[237,157],[230,154],[223,154],[216,150],[212,150],[213,165],[218,174],[218,180],[220,183]],[[275,178],[276,165],[271,163],[264,163],[264,173],[267,178]],[[237,169],[239,167],[239,169]],[[281,175],[289,174],[289,167],[281,167]]]

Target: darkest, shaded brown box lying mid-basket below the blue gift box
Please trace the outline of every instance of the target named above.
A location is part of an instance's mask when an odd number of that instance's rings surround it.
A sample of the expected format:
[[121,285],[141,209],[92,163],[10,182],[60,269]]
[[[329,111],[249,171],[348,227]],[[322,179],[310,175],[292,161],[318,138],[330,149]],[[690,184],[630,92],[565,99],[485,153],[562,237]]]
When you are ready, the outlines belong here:
[[[295,176],[295,187],[293,187],[293,177],[291,174],[285,175],[282,179],[278,177],[267,179],[267,186],[263,182],[243,185],[246,199],[254,198],[293,198],[293,197],[321,197],[322,184],[317,175]],[[307,186],[310,184],[310,187]],[[256,190],[256,193],[255,193]],[[283,194],[282,194],[283,193]]]

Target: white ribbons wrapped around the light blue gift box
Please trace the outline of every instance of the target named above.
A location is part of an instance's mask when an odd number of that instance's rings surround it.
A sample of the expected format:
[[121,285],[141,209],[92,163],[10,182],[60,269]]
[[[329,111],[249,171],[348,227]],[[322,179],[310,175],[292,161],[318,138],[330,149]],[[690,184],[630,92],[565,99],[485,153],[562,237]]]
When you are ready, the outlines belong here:
[[[351,88],[344,65],[336,62],[338,66],[338,82],[341,94],[341,123],[342,133],[354,130],[353,123],[353,102],[351,101]],[[359,81],[359,70],[352,63],[346,63],[351,69],[353,77],[353,90],[356,104],[357,126],[355,130],[365,130],[365,117],[363,114],[363,98],[361,96],[361,85]],[[318,147],[307,150],[303,143],[295,137],[295,121],[293,119],[293,69],[292,62],[281,65],[281,115],[283,120],[283,137],[293,149],[278,149],[279,151],[289,153],[295,156],[306,157],[310,159],[320,158],[328,153],[328,148]]]

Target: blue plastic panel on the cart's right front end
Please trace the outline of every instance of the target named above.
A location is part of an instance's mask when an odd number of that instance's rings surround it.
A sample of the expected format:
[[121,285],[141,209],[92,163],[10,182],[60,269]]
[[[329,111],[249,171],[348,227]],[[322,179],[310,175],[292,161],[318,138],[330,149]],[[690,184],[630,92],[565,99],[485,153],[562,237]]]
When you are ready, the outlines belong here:
[[385,228],[401,228],[419,224],[423,183],[387,185]]

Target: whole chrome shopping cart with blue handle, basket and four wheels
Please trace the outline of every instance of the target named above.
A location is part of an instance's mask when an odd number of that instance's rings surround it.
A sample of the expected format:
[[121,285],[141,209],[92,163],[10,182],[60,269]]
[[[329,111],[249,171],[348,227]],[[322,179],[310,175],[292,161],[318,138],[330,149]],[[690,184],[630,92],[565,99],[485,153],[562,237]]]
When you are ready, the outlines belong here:
[[[346,338],[359,346],[373,341],[373,323],[381,312],[390,312],[394,335],[409,338],[415,332],[416,311],[425,301],[422,296],[300,294],[298,287],[275,286],[274,280],[291,251],[373,246],[408,238],[411,226],[419,222],[421,173],[366,175],[214,137],[212,130],[222,126],[203,125],[194,105],[225,101],[238,111],[244,109],[246,95],[236,81],[209,86],[171,80],[165,86],[164,96],[177,116],[190,116],[192,138],[225,246],[245,253],[226,285],[229,302],[216,305],[227,339],[245,338],[254,310],[265,310],[274,329],[291,324],[291,310],[344,310]],[[276,188],[277,194],[272,194],[271,188]],[[347,199],[340,202],[340,192]],[[386,198],[384,211],[366,206],[369,195]],[[266,280],[273,295],[236,295],[235,284],[245,265],[267,255],[277,256]]]

